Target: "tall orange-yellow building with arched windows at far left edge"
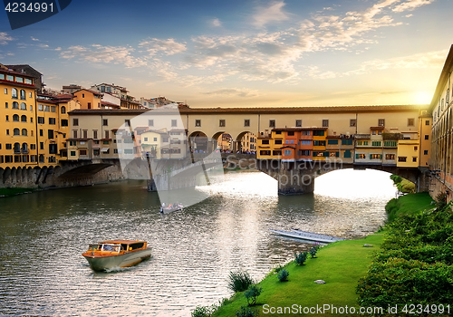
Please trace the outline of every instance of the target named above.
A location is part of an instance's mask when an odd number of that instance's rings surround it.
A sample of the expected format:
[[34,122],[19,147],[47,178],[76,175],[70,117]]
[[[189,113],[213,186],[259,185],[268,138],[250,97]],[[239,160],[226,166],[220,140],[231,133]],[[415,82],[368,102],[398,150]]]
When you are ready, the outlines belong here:
[[38,164],[34,78],[0,64],[0,168]]

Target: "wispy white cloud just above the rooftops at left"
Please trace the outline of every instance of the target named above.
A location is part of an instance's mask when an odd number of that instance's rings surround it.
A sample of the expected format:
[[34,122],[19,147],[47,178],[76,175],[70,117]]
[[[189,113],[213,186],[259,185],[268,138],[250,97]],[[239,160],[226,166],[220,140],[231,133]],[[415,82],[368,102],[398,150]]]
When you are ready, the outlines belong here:
[[77,58],[82,62],[123,64],[127,68],[145,66],[146,62],[143,59],[132,56],[133,51],[133,48],[125,46],[76,45],[64,50],[60,56],[67,60]]

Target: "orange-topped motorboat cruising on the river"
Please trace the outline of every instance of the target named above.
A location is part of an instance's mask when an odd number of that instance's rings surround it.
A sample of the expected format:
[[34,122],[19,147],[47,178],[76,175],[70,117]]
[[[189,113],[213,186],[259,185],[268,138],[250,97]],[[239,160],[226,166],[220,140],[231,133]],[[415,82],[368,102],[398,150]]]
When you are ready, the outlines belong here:
[[151,248],[146,241],[109,240],[89,245],[82,255],[94,271],[104,271],[138,264],[151,256]]

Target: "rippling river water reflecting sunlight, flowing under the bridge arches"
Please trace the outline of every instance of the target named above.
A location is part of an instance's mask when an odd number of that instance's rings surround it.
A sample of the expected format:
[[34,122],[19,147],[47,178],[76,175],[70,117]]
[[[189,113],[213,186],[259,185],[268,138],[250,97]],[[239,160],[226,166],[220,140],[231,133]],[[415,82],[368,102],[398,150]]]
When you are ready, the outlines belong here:
[[[2,198],[0,315],[190,316],[231,295],[230,271],[259,280],[308,246],[270,228],[347,238],[376,231],[395,196],[389,176],[340,170],[316,178],[313,195],[279,197],[262,173],[227,173],[198,187],[206,200],[168,215],[143,181]],[[82,252],[114,238],[146,240],[153,255],[92,272]]]

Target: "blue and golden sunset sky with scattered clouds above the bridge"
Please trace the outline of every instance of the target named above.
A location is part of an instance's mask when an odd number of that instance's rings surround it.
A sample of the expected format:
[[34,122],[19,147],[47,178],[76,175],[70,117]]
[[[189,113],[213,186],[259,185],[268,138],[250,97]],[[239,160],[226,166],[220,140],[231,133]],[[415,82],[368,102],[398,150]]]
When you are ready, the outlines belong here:
[[190,107],[423,104],[452,44],[451,0],[72,0],[12,30],[0,62],[47,87],[102,82]]

